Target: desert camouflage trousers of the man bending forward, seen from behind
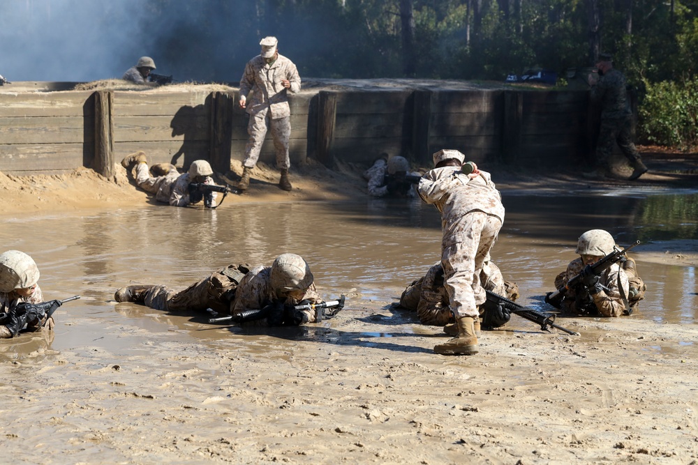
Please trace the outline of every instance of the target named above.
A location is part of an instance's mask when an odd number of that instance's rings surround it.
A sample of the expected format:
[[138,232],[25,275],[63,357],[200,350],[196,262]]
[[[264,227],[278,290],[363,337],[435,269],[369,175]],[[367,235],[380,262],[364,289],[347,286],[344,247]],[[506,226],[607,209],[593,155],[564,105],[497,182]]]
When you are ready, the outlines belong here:
[[502,222],[494,215],[471,211],[459,221],[466,240],[443,248],[441,265],[451,311],[456,318],[480,317],[477,307],[487,300],[480,273],[497,240]]

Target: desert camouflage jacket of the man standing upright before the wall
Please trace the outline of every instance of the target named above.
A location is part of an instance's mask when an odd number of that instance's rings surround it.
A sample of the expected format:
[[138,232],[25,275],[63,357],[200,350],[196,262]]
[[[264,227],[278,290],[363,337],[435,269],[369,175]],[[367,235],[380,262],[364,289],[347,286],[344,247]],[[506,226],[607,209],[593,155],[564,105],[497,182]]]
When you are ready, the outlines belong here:
[[[281,79],[291,82],[290,89],[281,85]],[[272,119],[290,116],[287,91],[297,93],[301,90],[301,78],[295,64],[283,55],[276,57],[274,63],[267,64],[261,55],[248,61],[240,79],[240,97],[247,98],[253,91],[252,101],[247,102],[249,114],[271,112]]]

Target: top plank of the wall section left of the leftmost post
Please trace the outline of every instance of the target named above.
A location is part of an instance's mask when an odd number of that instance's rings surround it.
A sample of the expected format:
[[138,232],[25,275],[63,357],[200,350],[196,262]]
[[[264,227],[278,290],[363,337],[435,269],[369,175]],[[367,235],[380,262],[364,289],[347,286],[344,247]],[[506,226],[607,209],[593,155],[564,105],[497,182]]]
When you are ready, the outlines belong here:
[[94,116],[93,107],[84,107],[92,92],[0,93],[1,118],[31,116]]

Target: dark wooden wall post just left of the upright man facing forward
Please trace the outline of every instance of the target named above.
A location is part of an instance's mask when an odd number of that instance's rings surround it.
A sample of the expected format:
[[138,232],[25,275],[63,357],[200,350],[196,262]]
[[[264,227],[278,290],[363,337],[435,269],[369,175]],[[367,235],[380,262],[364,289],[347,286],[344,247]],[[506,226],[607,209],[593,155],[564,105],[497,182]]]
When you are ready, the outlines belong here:
[[235,93],[214,92],[211,94],[211,126],[209,134],[209,160],[216,173],[230,171],[232,151],[232,109]]

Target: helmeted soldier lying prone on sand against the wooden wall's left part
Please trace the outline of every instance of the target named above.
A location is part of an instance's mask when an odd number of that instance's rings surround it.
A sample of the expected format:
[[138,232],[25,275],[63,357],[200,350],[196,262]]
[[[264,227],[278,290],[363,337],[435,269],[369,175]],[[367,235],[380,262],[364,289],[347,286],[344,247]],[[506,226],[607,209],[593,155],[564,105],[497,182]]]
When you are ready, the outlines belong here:
[[158,163],[148,169],[148,160],[144,152],[131,153],[121,166],[135,177],[135,183],[145,192],[155,195],[157,201],[172,206],[188,206],[204,201],[205,206],[215,206],[216,192],[201,192],[195,185],[209,184],[214,181],[211,165],[206,160],[195,160],[184,174],[179,174],[177,167],[170,163]]

